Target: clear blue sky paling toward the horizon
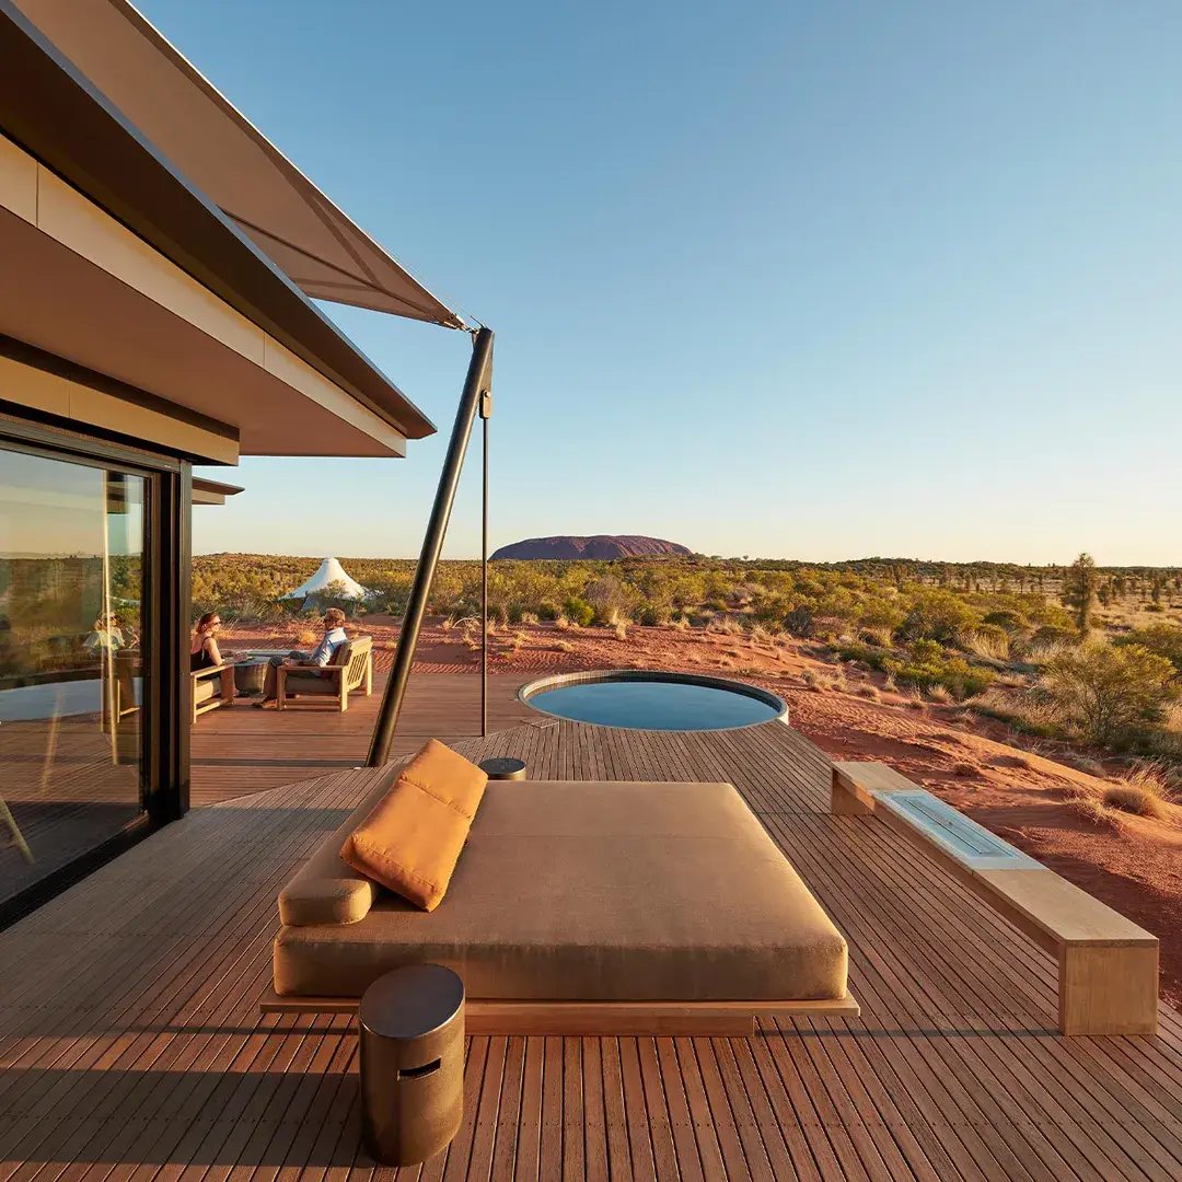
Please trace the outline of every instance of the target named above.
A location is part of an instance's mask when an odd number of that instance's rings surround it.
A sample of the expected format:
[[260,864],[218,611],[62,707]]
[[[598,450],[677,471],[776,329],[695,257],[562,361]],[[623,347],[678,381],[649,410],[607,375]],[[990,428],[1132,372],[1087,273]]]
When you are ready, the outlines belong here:
[[[1182,5],[142,6],[496,330],[494,544],[1182,560]],[[450,423],[463,336],[333,314]],[[443,436],[196,548],[415,554]]]

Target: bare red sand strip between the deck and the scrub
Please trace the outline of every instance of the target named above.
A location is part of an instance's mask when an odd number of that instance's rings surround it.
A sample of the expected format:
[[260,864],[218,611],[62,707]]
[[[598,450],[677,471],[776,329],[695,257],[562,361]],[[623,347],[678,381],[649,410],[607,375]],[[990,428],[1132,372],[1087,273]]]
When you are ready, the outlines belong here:
[[[390,617],[366,616],[378,665],[397,637]],[[311,639],[314,639],[312,637]],[[424,673],[475,673],[475,634],[437,623],[424,628],[415,668]],[[294,645],[294,631],[235,630],[226,647]],[[1099,791],[1102,780],[1021,749],[1004,726],[956,707],[916,708],[882,690],[882,680],[844,671],[845,690],[810,690],[801,675],[832,674],[833,665],[798,641],[753,643],[747,635],[629,628],[558,629],[553,624],[499,629],[492,638],[492,671],[561,673],[577,669],[670,669],[752,681],[788,702],[792,726],[834,759],[890,764],[994,833],[1051,866],[1155,933],[1162,941],[1162,991],[1182,1004],[1182,808],[1165,820],[1108,812],[1092,819],[1072,805],[1074,788]],[[858,696],[862,689],[871,696]]]

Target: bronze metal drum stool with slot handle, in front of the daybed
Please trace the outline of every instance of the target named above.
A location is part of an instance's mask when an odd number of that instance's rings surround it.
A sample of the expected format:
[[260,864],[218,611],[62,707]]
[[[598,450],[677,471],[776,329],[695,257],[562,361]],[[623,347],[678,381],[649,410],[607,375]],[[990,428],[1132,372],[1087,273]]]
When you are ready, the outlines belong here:
[[357,1011],[362,1131],[384,1165],[437,1154],[463,1118],[463,981],[442,965],[378,978]]

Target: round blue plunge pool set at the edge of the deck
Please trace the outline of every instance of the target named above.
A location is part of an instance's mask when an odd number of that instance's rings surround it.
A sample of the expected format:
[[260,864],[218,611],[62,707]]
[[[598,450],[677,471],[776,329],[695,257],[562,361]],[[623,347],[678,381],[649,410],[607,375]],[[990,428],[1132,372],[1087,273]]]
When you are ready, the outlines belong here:
[[543,677],[518,699],[543,714],[628,730],[732,730],[788,710],[774,694],[739,681],[647,669]]

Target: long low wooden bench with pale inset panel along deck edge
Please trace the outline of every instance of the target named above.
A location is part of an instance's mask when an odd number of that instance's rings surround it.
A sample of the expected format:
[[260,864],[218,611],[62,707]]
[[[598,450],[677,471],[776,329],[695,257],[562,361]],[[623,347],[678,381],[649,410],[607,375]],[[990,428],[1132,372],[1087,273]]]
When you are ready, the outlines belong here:
[[1155,935],[884,764],[834,764],[831,805],[881,818],[1054,953],[1064,1034],[1157,1032]]

